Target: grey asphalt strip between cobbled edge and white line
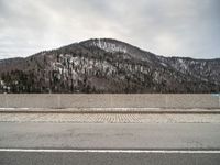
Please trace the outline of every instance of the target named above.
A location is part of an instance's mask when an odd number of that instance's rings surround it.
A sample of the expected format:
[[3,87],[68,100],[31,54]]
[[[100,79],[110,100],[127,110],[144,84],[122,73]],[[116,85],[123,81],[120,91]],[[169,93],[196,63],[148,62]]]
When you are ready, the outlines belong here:
[[1,122],[0,147],[220,148],[220,124]]

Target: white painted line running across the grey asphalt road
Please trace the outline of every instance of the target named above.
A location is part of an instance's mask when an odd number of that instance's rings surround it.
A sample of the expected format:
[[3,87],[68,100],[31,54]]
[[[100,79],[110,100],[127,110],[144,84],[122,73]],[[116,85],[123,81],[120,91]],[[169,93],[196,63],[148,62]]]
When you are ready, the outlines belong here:
[[217,150],[45,150],[45,148],[0,148],[0,152],[28,153],[161,153],[161,154],[220,154]]

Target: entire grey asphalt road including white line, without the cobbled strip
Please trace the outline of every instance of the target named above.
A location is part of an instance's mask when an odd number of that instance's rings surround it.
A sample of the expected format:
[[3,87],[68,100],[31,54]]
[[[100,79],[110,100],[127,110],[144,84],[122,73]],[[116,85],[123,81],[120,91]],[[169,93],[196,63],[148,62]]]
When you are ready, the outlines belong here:
[[219,151],[219,123],[0,122],[1,165],[217,165]]

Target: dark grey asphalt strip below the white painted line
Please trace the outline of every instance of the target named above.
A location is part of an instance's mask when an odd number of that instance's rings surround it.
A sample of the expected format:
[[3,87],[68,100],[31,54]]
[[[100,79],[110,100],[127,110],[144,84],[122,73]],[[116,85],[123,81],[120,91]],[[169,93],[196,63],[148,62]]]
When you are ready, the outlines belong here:
[[219,165],[220,154],[0,152],[1,165]]

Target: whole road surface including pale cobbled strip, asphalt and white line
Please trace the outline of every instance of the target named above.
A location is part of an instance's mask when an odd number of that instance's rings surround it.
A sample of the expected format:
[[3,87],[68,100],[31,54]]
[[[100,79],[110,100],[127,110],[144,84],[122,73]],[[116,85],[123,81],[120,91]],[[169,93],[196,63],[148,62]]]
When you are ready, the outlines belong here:
[[219,165],[220,114],[1,112],[1,165]]

